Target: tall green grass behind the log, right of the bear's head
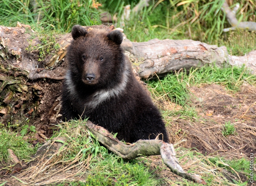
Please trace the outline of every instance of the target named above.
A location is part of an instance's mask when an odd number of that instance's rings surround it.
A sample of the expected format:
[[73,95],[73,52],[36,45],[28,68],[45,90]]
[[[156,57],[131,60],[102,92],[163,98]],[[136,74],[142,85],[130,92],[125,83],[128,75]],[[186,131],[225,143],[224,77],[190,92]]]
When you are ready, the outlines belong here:
[[[123,6],[137,1],[101,0],[103,9],[112,14],[123,14]],[[150,1],[139,15],[130,15],[126,21],[124,33],[131,41],[148,41],[150,39],[193,39],[211,45],[225,45],[233,55],[244,55],[256,49],[255,33],[248,31],[231,31],[223,33],[230,27],[225,14],[221,11],[224,0],[169,0]],[[234,0],[230,7],[240,4],[237,18],[240,21],[255,21],[256,4],[247,0]],[[119,19],[118,26],[121,26]],[[246,37],[245,37],[246,36]]]

